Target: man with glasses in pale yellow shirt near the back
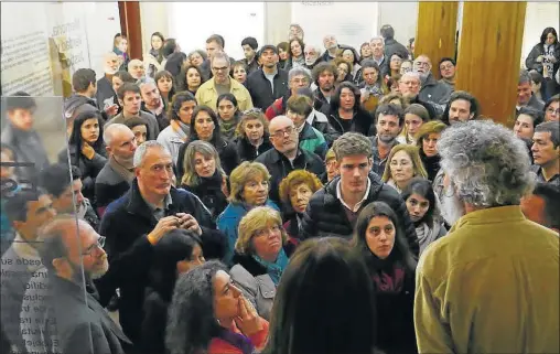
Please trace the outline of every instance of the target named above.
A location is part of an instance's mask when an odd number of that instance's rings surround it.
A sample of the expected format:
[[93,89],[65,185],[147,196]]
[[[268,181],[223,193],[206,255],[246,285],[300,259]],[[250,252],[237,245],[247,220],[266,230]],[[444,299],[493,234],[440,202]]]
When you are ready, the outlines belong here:
[[237,98],[239,110],[252,108],[252,99],[245,86],[229,76],[229,57],[224,52],[216,52],[211,57],[211,69],[214,75],[196,92],[196,101],[200,106],[216,109],[218,96],[230,93]]

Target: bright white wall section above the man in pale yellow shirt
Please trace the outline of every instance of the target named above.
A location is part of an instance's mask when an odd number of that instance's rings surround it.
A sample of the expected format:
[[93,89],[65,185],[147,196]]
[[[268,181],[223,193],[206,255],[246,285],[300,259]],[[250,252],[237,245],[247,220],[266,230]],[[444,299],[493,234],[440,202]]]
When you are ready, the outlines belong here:
[[224,36],[226,53],[236,60],[244,58],[246,36],[263,44],[265,2],[173,2],[168,9],[169,36],[177,40],[184,53],[204,50],[212,34]]

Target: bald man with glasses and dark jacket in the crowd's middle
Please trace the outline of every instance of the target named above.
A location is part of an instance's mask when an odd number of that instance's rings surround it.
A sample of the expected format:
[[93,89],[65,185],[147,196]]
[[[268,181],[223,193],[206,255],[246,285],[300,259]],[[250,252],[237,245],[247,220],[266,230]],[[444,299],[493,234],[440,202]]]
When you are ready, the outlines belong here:
[[262,163],[270,172],[269,197],[281,205],[280,182],[293,170],[306,170],[317,178],[325,172],[323,160],[311,151],[299,148],[298,130],[293,121],[286,116],[278,116],[270,121],[270,142],[273,149],[259,155],[255,161]]

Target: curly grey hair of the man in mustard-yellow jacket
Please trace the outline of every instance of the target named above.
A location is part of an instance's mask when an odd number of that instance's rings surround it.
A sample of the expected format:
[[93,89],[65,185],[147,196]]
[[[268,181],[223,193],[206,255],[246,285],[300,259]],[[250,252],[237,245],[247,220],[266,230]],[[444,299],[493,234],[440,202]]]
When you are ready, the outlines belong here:
[[474,206],[518,205],[532,190],[527,146],[491,120],[461,122],[438,141],[441,167],[457,197]]

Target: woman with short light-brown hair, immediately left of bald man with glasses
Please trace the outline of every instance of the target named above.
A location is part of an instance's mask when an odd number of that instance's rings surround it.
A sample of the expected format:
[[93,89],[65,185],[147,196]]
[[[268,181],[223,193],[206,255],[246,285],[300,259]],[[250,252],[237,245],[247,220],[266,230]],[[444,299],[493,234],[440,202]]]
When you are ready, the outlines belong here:
[[254,161],[259,154],[272,149],[268,133],[268,119],[260,110],[251,109],[243,112],[235,135],[237,154],[241,161]]

